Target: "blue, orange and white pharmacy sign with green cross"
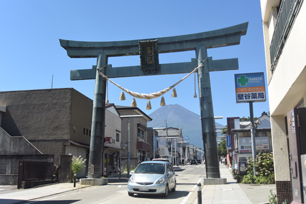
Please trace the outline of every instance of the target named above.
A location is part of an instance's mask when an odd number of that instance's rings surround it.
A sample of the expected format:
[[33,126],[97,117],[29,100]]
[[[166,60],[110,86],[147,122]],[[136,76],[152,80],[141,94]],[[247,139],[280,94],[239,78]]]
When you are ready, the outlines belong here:
[[235,74],[236,103],[266,101],[264,72]]

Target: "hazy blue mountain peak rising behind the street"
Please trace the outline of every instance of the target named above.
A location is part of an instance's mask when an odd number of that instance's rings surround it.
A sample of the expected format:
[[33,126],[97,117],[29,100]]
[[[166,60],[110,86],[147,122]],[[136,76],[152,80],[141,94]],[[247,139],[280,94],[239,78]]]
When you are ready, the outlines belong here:
[[[148,127],[181,127],[183,137],[188,136],[187,142],[203,148],[201,120],[200,116],[187,110],[180,105],[166,105],[149,114],[152,121],[148,122]],[[221,127],[219,123],[216,126]]]

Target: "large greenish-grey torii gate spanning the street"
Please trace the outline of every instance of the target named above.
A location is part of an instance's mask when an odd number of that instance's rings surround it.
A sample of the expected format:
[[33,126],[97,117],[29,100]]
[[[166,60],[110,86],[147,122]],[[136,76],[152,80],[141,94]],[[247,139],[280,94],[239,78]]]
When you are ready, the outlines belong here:
[[[61,46],[67,50],[70,58],[97,58],[97,65],[92,66],[92,69],[70,70],[70,80],[95,79],[88,178],[99,179],[100,172],[104,172],[101,171],[101,161],[104,152],[106,79],[98,74],[97,69],[106,67],[101,69],[104,75],[108,78],[119,78],[189,73],[201,64],[203,66],[197,72],[206,176],[208,179],[220,178],[209,72],[238,69],[238,58],[212,60],[212,57],[207,56],[207,49],[239,44],[241,36],[246,34],[247,26],[248,22],[245,22],[203,33],[129,41],[84,42],[60,39]],[[143,52],[140,50],[141,43],[144,46],[149,44],[153,48],[153,56],[141,56],[140,51]],[[154,58],[156,54],[158,56],[158,53],[188,50],[195,50],[196,59],[191,59],[191,62],[159,64],[158,57]],[[112,67],[108,65],[109,57],[131,55],[140,55],[141,59],[146,58],[149,65],[143,64],[144,61],[140,66]],[[91,166],[94,168],[91,169]]]

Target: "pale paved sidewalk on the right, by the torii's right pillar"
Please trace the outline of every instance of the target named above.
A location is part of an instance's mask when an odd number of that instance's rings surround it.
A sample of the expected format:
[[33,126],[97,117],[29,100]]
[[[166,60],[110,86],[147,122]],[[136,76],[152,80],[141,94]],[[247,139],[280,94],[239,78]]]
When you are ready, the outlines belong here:
[[[225,165],[220,165],[221,178],[226,178],[224,185],[204,185],[202,188],[202,203],[269,203],[269,190],[275,193],[275,185],[237,184],[232,173]],[[197,204],[197,198],[193,204]]]

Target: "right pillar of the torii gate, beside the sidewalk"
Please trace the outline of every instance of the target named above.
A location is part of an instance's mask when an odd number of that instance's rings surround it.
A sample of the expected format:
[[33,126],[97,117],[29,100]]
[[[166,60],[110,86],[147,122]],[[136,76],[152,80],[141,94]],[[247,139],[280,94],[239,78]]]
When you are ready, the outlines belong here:
[[[207,58],[207,49],[205,46],[198,46],[196,47],[195,52],[196,58],[198,59],[198,65],[203,63],[203,67],[198,69],[198,86],[202,124],[201,130],[206,162],[206,177],[220,178],[218,145],[215,132],[215,119],[213,112],[209,67],[208,60],[205,60]],[[205,61],[202,62],[203,60]]]

